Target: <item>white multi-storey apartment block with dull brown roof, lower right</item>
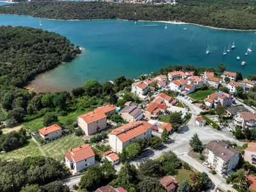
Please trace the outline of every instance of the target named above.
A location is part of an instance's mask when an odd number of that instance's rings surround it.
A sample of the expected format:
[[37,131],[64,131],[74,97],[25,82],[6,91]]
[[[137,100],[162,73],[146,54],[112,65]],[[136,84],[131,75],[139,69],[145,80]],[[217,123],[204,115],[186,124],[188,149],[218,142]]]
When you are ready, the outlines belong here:
[[216,173],[223,175],[236,168],[239,152],[220,140],[213,140],[205,147],[205,157]]

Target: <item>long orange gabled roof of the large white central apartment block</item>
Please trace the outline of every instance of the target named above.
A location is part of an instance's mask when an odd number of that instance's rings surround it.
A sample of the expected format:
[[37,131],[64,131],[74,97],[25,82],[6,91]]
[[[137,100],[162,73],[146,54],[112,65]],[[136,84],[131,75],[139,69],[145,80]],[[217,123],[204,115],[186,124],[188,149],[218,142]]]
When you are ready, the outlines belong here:
[[116,135],[122,143],[125,143],[126,141],[147,132],[148,129],[152,129],[152,127],[153,125],[148,124],[148,122],[131,122],[113,129],[109,134]]

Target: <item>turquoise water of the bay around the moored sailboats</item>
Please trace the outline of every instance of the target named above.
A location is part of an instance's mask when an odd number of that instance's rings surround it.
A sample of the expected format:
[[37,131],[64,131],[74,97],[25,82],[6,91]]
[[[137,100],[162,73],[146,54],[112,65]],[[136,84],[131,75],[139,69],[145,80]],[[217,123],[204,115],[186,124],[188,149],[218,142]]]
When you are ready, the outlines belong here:
[[[134,78],[166,65],[216,67],[223,63],[227,70],[243,72],[244,76],[256,74],[254,31],[226,31],[190,24],[168,24],[164,29],[165,24],[160,22],[134,24],[122,20],[42,20],[42,24],[42,29],[67,36],[85,49],[71,63],[36,77],[31,86],[42,91],[71,90],[88,79],[107,81],[122,75]],[[143,26],[147,24],[156,26]],[[40,28],[38,19],[15,15],[0,15],[0,25]],[[224,46],[227,49],[233,40],[236,49],[223,56]],[[251,42],[253,52],[245,56]],[[208,56],[207,43],[211,52]],[[246,61],[244,67],[241,61]]]

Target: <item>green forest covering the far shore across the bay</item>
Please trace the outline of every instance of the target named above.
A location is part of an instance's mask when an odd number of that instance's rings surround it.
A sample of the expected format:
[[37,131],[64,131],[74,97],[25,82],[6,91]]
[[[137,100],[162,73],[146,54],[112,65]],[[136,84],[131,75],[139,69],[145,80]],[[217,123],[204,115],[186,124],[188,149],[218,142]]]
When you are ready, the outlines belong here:
[[177,4],[131,4],[33,0],[0,7],[0,13],[48,19],[176,20],[230,29],[256,29],[256,1],[177,0]]

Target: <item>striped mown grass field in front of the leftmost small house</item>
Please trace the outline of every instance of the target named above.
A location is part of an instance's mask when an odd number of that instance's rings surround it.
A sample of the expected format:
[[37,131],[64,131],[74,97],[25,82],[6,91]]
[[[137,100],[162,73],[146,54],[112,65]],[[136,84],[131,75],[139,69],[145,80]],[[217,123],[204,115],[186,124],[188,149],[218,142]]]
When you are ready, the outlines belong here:
[[65,136],[42,147],[37,145],[35,141],[29,140],[28,145],[25,147],[0,154],[0,159],[24,159],[28,156],[47,156],[61,161],[64,158],[65,152],[67,152],[70,148],[74,148],[83,144],[84,139],[77,137],[74,134]]

